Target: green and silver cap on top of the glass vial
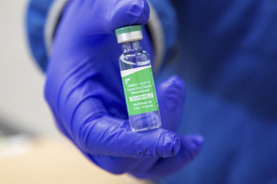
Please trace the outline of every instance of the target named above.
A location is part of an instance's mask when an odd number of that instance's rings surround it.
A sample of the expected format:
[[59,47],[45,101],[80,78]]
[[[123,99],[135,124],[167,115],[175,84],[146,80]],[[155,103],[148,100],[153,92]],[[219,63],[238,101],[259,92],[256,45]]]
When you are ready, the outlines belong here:
[[142,25],[126,26],[115,30],[118,43],[142,40]]

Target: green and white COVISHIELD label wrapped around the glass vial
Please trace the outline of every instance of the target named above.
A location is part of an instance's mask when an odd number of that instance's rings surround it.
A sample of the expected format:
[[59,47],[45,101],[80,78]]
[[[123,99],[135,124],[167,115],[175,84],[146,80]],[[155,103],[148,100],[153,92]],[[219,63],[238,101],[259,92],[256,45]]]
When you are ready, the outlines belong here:
[[159,110],[151,66],[121,71],[128,115]]

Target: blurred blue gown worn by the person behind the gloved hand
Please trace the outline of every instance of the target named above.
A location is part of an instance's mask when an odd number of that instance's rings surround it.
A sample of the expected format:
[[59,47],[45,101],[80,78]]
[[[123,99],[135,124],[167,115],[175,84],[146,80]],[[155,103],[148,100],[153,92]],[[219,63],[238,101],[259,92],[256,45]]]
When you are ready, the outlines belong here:
[[[51,2],[37,6],[47,12]],[[202,134],[205,144],[192,163],[157,182],[277,183],[277,1],[172,3],[179,55],[164,64],[156,83],[172,74],[184,78],[187,95],[178,133]],[[33,1],[29,16],[35,8]],[[43,25],[45,17],[37,21]],[[45,68],[43,36],[37,37],[30,38],[32,50]]]

